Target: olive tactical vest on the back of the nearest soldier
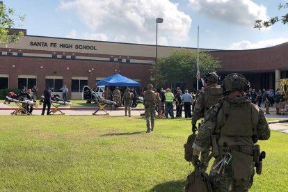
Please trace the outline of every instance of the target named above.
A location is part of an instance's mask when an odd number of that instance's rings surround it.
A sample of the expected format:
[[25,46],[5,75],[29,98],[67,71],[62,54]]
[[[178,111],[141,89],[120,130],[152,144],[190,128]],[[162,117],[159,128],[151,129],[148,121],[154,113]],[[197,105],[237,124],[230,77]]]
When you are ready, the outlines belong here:
[[257,135],[258,121],[259,113],[250,101],[237,104],[225,99],[218,111],[216,133],[225,136],[252,137]]

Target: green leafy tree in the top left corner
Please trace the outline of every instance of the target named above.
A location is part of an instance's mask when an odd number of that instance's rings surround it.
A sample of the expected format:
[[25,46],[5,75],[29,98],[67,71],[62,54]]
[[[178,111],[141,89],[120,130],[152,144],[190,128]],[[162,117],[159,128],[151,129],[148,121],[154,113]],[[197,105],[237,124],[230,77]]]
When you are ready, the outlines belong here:
[[18,15],[17,19],[13,18],[15,16],[15,10],[13,8],[6,8],[0,2],[0,44],[7,45],[8,43],[19,41],[19,37],[23,36],[22,31],[10,34],[10,29],[15,27],[15,21],[24,21],[25,15]]

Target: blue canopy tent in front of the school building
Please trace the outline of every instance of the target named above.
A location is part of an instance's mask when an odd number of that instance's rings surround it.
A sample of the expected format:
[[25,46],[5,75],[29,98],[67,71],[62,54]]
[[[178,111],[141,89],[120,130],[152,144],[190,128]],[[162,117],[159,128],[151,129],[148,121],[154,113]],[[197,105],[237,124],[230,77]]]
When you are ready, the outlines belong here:
[[140,86],[140,83],[133,81],[121,74],[113,74],[110,77],[102,79],[96,82],[97,86]]

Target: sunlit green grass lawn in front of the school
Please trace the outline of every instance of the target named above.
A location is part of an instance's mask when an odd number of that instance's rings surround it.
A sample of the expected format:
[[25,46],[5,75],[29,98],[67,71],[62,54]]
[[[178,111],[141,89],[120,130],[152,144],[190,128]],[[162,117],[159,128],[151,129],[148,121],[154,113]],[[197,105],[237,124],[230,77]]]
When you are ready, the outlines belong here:
[[[191,120],[155,124],[146,134],[141,117],[2,116],[0,191],[181,191]],[[287,139],[259,142],[266,159],[250,191],[287,190]]]

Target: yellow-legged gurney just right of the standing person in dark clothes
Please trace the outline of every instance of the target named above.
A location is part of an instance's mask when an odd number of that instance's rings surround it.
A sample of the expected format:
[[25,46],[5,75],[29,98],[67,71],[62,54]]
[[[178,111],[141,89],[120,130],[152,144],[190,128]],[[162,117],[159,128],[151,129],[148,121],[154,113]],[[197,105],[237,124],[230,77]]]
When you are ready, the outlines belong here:
[[[42,103],[44,103],[44,96],[41,96],[41,100],[40,105],[42,105]],[[49,111],[50,114],[54,114],[54,115],[65,115],[65,113],[63,113],[59,107],[60,106],[72,106],[72,103],[70,101],[67,100],[63,100],[63,99],[59,99],[60,95],[56,95],[56,94],[51,94],[51,106],[54,107],[54,109],[51,109],[51,111]],[[58,113],[58,114],[56,114]]]

